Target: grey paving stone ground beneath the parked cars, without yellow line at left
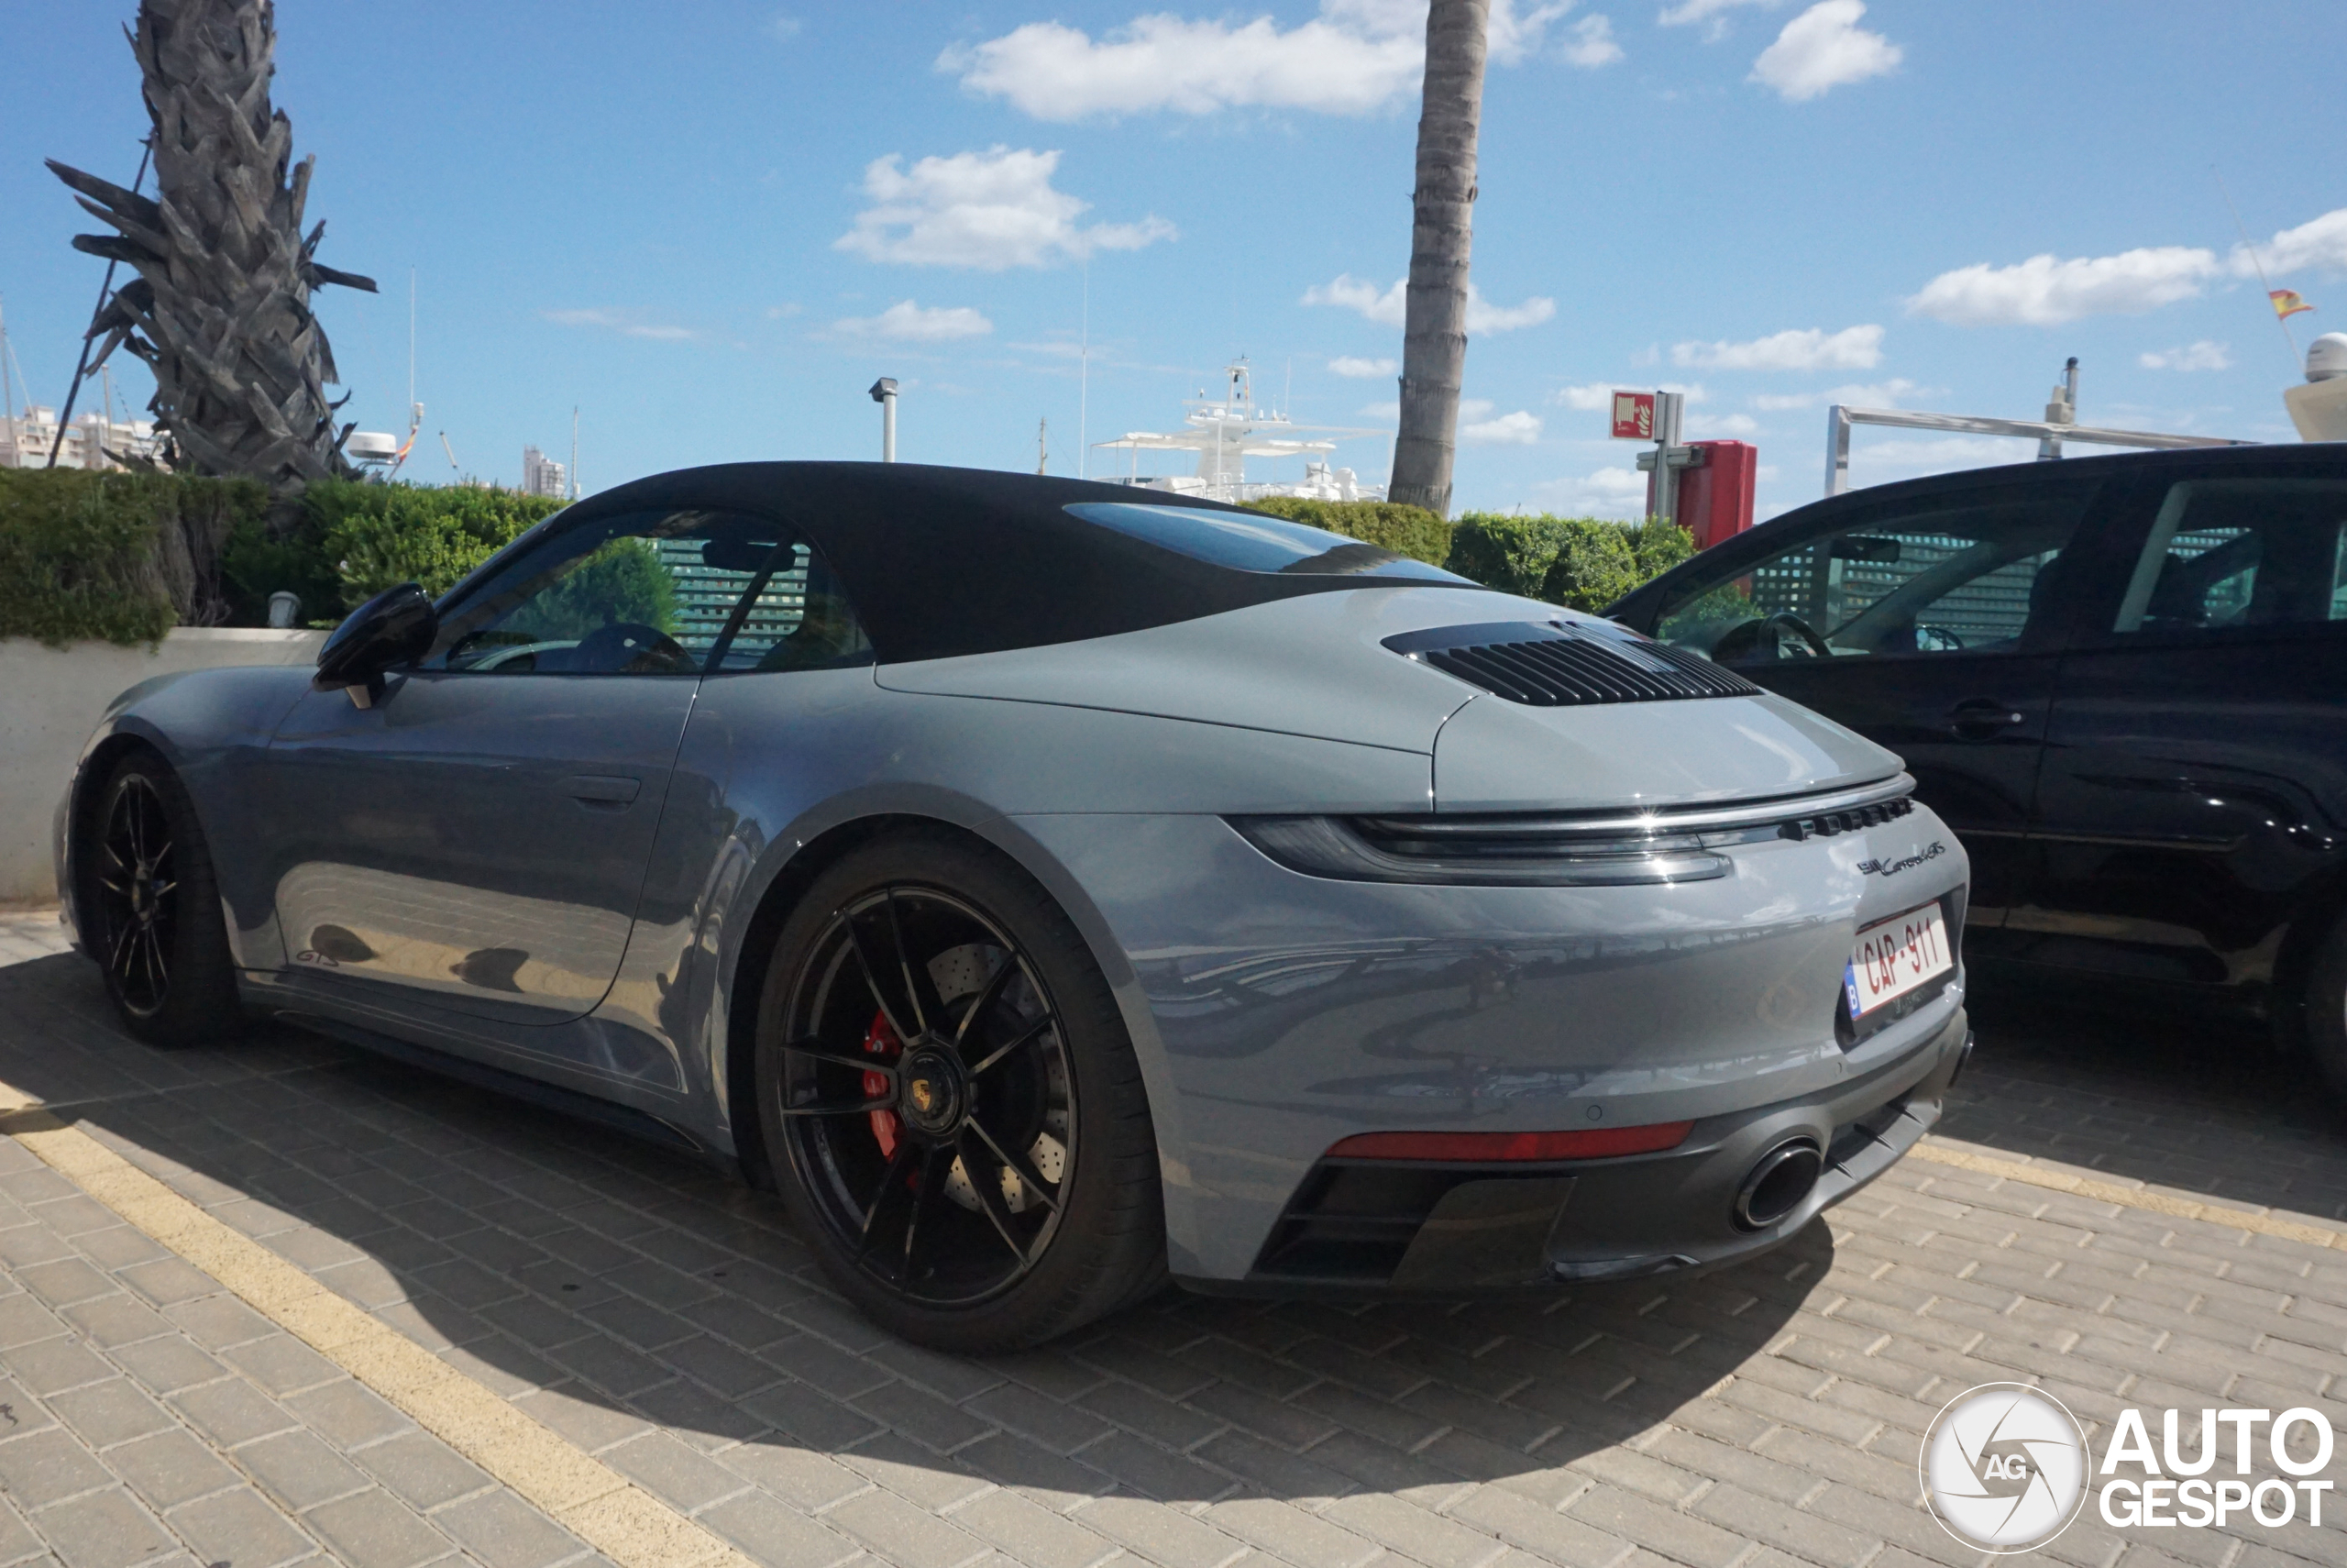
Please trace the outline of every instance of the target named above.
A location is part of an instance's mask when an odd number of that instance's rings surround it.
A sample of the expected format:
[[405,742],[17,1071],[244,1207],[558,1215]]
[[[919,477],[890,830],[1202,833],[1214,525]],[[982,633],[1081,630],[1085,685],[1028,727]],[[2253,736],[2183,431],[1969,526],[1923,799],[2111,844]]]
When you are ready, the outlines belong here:
[[[2347,1136],[2255,1042],[1981,1035],[1941,1143],[2347,1228]],[[138,1047],[52,915],[0,918],[0,1080],[791,1568],[1971,1568],[1993,1559],[1915,1474],[1971,1385],[2056,1392],[2096,1451],[2126,1406],[2347,1427],[2347,1251],[1920,1160],[1695,1282],[1176,1291],[981,1361],[864,1324],[770,1199],[688,1160],[289,1028]],[[0,1505],[0,1566],[596,1561],[12,1141]],[[2335,1507],[2223,1530],[2089,1507],[2044,1556],[2347,1563]]]

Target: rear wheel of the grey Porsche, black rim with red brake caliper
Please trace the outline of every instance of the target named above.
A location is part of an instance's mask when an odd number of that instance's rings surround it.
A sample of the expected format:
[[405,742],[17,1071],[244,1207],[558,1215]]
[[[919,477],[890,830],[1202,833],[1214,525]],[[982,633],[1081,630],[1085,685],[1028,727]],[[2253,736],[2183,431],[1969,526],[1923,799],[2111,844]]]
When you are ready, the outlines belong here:
[[756,1054],[775,1183],[882,1329],[1016,1350],[1164,1279],[1134,1045],[1082,937],[1002,857],[904,833],[821,873]]

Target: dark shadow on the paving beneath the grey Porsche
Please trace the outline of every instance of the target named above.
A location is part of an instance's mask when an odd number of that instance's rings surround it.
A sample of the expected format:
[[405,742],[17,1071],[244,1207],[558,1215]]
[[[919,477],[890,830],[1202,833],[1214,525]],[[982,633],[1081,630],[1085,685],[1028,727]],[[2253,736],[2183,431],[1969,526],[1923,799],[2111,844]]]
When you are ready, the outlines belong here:
[[725,1448],[725,1467],[803,1505],[824,1488],[807,1453],[892,1467],[908,1495],[983,1476],[1164,1502],[1551,1472],[1758,1357],[1833,1265],[1812,1225],[1727,1272],[1572,1298],[1169,1291],[979,1361],[854,1317],[779,1204],[723,1174],[282,1026],[150,1052],[113,1030],[77,955],[0,969],[0,1080],[580,1446],[662,1425],[704,1451],[669,1462]]

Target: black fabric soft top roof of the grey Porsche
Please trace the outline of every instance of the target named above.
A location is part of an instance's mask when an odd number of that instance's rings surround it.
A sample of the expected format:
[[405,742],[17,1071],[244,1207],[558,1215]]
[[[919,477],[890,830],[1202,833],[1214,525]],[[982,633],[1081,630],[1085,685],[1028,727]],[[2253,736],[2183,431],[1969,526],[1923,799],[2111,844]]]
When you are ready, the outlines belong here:
[[622,484],[547,523],[676,507],[791,523],[840,577],[882,664],[1042,648],[1298,594],[1408,584],[1213,566],[1063,512],[1084,500],[1244,512],[1044,474],[915,462],[725,462]]

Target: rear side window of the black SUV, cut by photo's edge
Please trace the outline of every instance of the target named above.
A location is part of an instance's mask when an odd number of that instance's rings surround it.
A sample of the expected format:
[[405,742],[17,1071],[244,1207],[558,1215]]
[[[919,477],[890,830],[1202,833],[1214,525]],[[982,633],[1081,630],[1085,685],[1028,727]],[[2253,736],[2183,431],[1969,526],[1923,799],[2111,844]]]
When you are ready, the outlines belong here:
[[2347,481],[2171,484],[2112,631],[2190,634],[2347,620]]

